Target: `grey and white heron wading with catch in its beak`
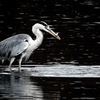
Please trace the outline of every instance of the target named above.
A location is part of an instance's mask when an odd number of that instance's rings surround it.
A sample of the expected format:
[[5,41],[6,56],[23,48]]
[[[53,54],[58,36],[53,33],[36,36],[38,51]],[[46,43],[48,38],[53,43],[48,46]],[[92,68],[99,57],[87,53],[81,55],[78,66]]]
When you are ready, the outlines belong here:
[[61,39],[58,33],[55,33],[46,22],[41,21],[32,26],[32,33],[36,36],[35,40],[28,34],[17,34],[0,42],[0,60],[2,62],[9,61],[8,68],[10,72],[15,60],[18,60],[18,71],[21,72],[22,61],[27,61],[32,52],[41,45],[43,41],[42,30],[50,33],[58,40]]

